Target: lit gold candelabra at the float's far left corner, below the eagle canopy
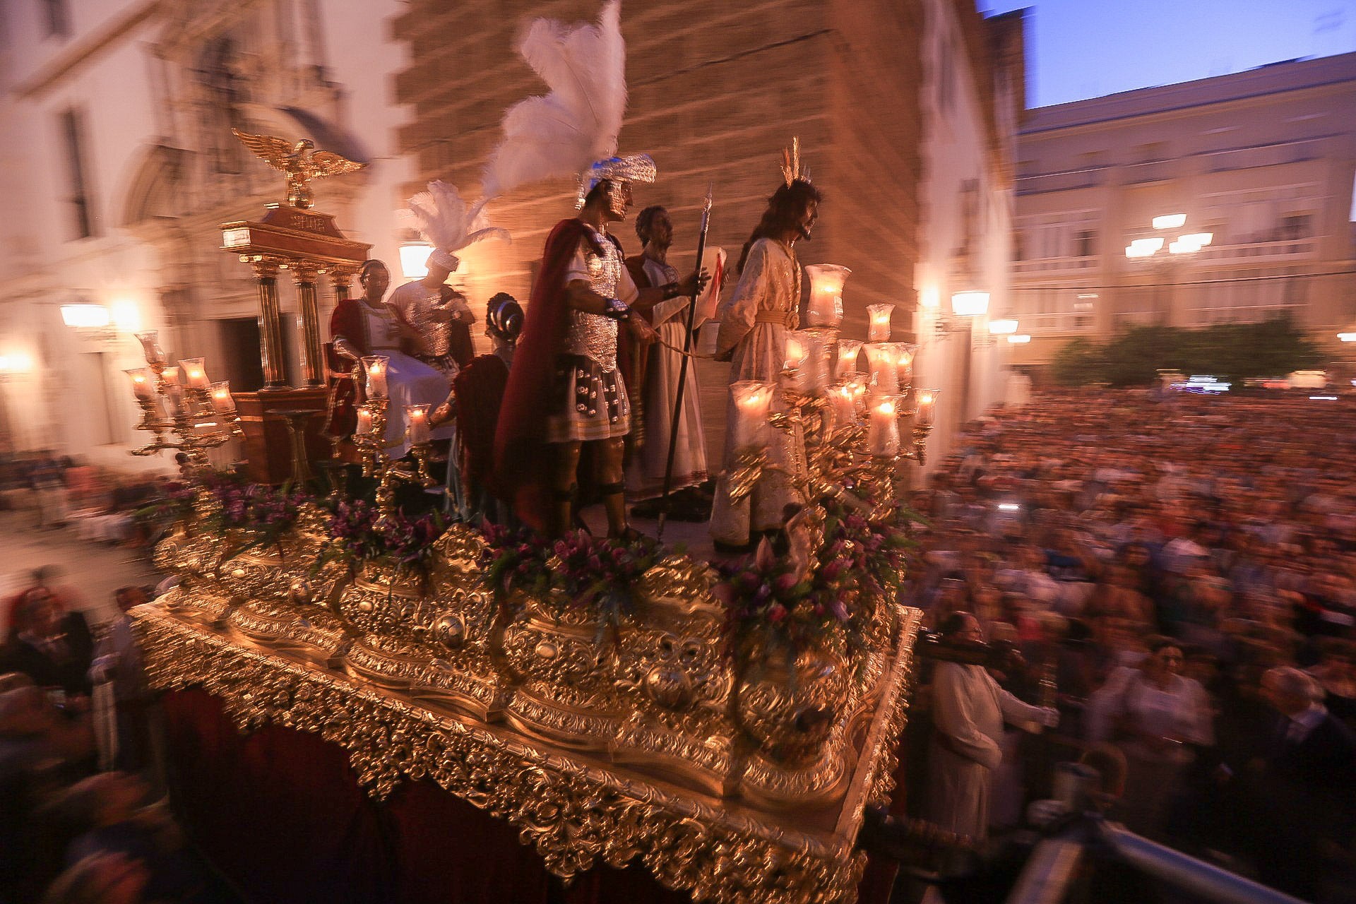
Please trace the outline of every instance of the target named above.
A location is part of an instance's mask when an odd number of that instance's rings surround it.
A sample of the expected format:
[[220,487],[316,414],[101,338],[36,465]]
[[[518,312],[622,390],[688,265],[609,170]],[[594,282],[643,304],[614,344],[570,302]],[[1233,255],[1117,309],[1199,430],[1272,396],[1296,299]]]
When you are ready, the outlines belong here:
[[188,358],[170,367],[156,331],[137,333],[146,356],[145,367],[127,370],[132,390],[141,407],[141,423],[153,439],[133,449],[133,455],[153,455],[172,449],[187,455],[193,474],[212,470],[207,450],[243,436],[235,397],[228,381],[210,382],[202,358]]

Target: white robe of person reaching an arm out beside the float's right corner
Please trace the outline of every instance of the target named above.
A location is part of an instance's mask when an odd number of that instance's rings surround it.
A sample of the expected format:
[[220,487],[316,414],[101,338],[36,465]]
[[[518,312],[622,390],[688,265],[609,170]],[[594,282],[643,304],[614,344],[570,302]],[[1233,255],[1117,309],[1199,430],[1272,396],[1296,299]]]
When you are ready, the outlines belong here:
[[982,665],[937,663],[937,735],[928,751],[930,820],[946,831],[983,839],[994,770],[1003,758],[1003,720],[1040,722],[1043,717],[1041,707],[1005,691]]

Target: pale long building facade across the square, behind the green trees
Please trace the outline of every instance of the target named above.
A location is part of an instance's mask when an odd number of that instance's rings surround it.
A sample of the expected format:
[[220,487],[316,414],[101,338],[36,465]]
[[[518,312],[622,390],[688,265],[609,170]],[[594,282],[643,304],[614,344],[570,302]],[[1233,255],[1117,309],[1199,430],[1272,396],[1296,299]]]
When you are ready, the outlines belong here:
[[[1035,110],[1017,145],[1013,304],[1040,367],[1136,324],[1356,320],[1356,53]],[[1154,218],[1184,214],[1178,228]],[[1211,244],[1170,253],[1181,234]],[[1125,247],[1162,239],[1149,258]]]

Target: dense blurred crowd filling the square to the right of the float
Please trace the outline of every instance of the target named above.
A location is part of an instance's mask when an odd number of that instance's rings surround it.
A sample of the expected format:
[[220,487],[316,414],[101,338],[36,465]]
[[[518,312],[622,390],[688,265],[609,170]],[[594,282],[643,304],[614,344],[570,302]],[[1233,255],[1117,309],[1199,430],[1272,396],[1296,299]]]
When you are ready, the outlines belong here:
[[[972,835],[1014,825],[1048,793],[1045,766],[1092,752],[1121,764],[1115,817],[1132,831],[1306,900],[1351,888],[1353,413],[1307,394],[1089,389],[968,424],[913,497],[929,519],[914,600],[944,634],[1006,651],[986,671],[1055,705],[1059,726],[957,726],[955,682],[938,682],[933,771],[951,756],[983,781],[919,813]],[[1026,728],[1055,721],[999,702]]]

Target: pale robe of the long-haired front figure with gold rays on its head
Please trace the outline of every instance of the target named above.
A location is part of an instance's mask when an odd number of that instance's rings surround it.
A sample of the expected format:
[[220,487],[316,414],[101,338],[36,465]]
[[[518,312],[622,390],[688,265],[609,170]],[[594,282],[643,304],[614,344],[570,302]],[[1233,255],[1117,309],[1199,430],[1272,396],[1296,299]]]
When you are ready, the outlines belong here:
[[[786,329],[795,328],[799,306],[800,264],[795,252],[780,241],[759,239],[749,249],[749,260],[721,314],[716,339],[716,358],[731,362],[731,384],[740,379],[777,382],[786,363]],[[728,469],[735,462],[736,450],[731,447],[731,438],[739,411],[734,400],[725,404],[724,466]],[[770,432],[769,461],[803,476],[805,438],[800,428]],[[724,543],[747,543],[753,531],[781,527],[782,510],[788,503],[804,503],[804,499],[784,473],[765,472],[753,493],[738,503],[730,499],[727,481],[720,480],[711,512],[711,535]]]

